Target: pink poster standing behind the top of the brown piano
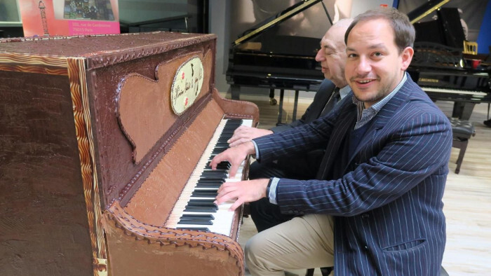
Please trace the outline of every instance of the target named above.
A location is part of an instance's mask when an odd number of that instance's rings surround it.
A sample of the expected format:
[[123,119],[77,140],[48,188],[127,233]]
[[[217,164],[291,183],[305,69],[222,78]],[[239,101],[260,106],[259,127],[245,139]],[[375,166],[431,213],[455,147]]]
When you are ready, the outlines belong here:
[[118,0],[19,1],[24,36],[119,34]]

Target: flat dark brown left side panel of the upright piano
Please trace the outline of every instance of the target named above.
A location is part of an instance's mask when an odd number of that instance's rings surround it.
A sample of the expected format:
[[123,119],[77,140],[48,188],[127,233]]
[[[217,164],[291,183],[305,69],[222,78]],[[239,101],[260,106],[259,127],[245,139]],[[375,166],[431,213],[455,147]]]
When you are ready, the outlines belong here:
[[16,68],[0,71],[0,274],[93,275],[66,69]]

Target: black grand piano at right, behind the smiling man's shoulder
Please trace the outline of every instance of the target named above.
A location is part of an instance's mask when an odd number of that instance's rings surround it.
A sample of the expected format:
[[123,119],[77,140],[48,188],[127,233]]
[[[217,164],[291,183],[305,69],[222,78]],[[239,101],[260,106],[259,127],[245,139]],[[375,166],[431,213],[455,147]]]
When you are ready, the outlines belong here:
[[[416,29],[415,55],[408,73],[434,101],[454,102],[453,118],[469,120],[475,104],[491,102],[490,68],[471,67],[482,56],[463,53],[464,32],[450,0],[431,0],[408,13]],[[419,22],[436,11],[438,18]]]

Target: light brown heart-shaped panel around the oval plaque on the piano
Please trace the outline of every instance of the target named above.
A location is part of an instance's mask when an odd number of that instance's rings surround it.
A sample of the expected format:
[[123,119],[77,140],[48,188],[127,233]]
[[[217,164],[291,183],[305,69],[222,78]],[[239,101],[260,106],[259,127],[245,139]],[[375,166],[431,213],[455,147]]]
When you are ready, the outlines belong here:
[[[173,99],[170,90],[173,89],[173,83],[163,76],[169,73],[175,76],[175,72],[179,71],[182,64],[187,64],[190,60],[196,58],[206,63],[209,62],[210,57],[210,50],[207,50],[206,53],[199,51],[185,53],[158,64],[154,79],[140,74],[128,74],[121,79],[116,92],[116,117],[123,134],[133,147],[134,163],[140,163],[168,129],[176,123],[182,124],[179,122],[180,116],[172,111]],[[201,68],[203,69],[203,66]],[[203,69],[203,78],[210,77],[210,68]],[[205,83],[208,84],[208,82]],[[207,93],[210,94],[209,88],[203,85],[203,81],[200,88],[196,95],[197,99],[204,97]],[[196,99],[192,100],[189,107],[193,103],[196,104],[195,101]],[[196,107],[192,106],[188,110],[192,109]],[[186,116],[184,111],[182,113],[182,116]]]

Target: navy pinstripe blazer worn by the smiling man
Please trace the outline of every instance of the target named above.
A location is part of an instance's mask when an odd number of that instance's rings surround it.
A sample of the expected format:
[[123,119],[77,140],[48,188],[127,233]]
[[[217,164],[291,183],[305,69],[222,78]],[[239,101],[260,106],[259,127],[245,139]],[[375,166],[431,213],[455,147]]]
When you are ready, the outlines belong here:
[[335,216],[336,275],[439,275],[448,118],[408,76],[372,119],[342,174],[333,172],[354,120],[349,96],[309,125],[255,139],[261,161],[326,148],[322,180],[278,182],[281,212]]

